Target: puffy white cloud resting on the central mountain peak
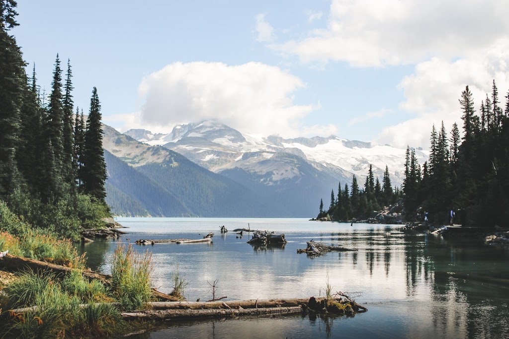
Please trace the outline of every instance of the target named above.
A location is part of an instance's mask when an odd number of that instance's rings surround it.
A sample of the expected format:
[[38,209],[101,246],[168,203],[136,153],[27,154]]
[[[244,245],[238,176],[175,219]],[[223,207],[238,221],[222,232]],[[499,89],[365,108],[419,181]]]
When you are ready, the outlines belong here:
[[298,77],[261,63],[174,63],[139,85],[140,125],[168,131],[176,124],[215,119],[241,132],[294,137],[301,119],[319,107],[294,104],[302,87]]

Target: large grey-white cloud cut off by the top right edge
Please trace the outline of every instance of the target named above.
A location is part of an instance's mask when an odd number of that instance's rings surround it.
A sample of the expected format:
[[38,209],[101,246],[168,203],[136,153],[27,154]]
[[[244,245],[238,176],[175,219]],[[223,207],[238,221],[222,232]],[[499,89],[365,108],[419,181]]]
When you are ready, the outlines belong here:
[[509,6],[500,0],[334,0],[326,29],[271,47],[305,62],[414,64],[492,45],[509,32],[507,17]]

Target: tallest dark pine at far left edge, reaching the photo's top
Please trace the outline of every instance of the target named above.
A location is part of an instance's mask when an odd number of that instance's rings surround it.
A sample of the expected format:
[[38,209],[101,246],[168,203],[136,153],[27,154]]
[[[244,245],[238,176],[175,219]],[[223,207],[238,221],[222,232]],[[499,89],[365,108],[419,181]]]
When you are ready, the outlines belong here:
[[15,1],[0,1],[0,198],[6,198],[19,186],[16,150],[26,74],[21,51],[8,34],[18,25],[15,7]]

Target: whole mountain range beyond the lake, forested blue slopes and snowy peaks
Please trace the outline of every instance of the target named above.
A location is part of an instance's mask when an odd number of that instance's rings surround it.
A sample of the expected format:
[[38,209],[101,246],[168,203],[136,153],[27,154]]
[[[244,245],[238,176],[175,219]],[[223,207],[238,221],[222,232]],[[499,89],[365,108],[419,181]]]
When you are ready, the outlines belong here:
[[243,135],[210,120],[167,134],[104,125],[103,147],[106,199],[119,215],[314,217],[338,183],[355,174],[363,184],[370,164],[380,180],[387,165],[400,186],[405,163],[405,149],[389,145]]

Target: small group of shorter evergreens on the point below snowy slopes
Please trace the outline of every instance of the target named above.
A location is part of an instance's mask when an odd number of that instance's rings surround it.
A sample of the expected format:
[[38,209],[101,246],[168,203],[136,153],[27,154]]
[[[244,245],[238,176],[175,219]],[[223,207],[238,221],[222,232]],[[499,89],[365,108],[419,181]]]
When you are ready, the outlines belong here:
[[373,165],[367,172],[364,188],[359,188],[355,174],[349,188],[345,183],[344,188],[341,182],[338,184],[337,195],[334,190],[330,193],[330,205],[324,209],[323,199],[320,199],[320,211],[317,218],[329,216],[331,220],[347,222],[352,219],[370,218],[383,206],[389,206],[401,197],[401,190],[392,187],[390,182],[389,168],[385,166],[382,182],[375,179]]

